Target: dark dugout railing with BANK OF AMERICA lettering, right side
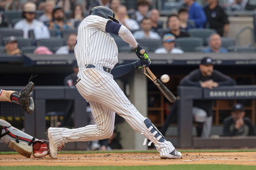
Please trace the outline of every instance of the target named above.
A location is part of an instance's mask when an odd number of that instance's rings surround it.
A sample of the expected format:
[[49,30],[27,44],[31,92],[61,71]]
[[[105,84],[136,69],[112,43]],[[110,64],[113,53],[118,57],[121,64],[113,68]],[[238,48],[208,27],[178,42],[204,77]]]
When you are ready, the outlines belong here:
[[178,144],[180,148],[239,148],[255,147],[255,137],[199,138],[192,136],[194,100],[256,99],[256,86],[223,86],[214,89],[178,87]]

